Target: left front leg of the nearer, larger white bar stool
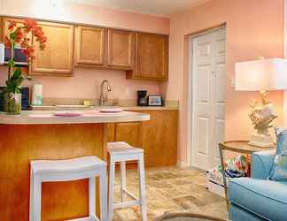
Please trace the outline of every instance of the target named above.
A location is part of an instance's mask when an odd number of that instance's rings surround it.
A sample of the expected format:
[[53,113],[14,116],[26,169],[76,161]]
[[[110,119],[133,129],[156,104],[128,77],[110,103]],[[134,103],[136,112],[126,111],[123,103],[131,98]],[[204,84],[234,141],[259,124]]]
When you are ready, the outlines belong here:
[[33,213],[31,214],[33,221],[41,221],[41,191],[42,191],[42,182],[40,178],[36,175],[33,175]]

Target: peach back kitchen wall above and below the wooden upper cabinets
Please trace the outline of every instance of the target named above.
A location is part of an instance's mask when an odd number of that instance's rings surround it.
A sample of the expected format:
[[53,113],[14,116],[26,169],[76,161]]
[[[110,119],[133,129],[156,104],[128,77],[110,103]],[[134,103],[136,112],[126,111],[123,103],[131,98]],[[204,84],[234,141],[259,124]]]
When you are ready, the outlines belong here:
[[[56,4],[43,0],[0,0],[0,14],[9,16],[34,17],[105,27],[117,27],[136,31],[169,34],[169,19],[127,11],[115,11],[81,4]],[[61,1],[58,1],[61,2]],[[15,6],[17,5],[17,6]],[[0,85],[4,85],[6,72],[0,68]],[[43,83],[46,98],[95,98],[101,80],[110,80],[112,95],[119,99],[136,99],[137,89],[148,89],[150,94],[159,94],[159,83],[126,80],[122,71],[103,71],[77,68],[72,78],[35,77]],[[27,85],[31,84],[27,83]]]

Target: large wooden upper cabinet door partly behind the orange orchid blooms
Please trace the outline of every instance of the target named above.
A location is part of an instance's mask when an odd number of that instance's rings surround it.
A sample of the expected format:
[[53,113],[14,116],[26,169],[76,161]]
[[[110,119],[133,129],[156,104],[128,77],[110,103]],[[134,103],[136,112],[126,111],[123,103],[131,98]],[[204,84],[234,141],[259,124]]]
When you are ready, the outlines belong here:
[[73,72],[74,26],[50,22],[38,22],[47,36],[45,50],[40,50],[33,38],[35,60],[32,74],[71,75]]

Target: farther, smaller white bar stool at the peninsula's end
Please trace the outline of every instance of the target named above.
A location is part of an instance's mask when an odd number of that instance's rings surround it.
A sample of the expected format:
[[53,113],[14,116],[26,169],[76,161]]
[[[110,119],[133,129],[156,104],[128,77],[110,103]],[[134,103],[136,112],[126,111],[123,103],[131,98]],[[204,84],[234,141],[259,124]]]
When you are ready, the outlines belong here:
[[[146,202],[145,202],[145,181],[143,165],[143,149],[136,149],[127,142],[109,142],[107,150],[110,153],[110,178],[109,178],[109,221],[112,221],[113,210],[125,208],[133,205],[140,205],[143,221],[147,221]],[[126,188],[126,161],[137,161],[137,170],[139,171],[140,197],[136,198],[134,194],[127,191]],[[113,184],[115,164],[120,162],[120,194],[121,202],[113,202]],[[124,202],[123,194],[128,194],[133,201]]]

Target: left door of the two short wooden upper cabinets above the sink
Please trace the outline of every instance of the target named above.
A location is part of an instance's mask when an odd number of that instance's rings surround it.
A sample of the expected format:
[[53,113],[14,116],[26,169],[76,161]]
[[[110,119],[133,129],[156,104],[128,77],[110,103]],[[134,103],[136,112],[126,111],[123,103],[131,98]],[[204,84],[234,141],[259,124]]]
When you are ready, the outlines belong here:
[[105,28],[77,27],[76,65],[105,65]]

